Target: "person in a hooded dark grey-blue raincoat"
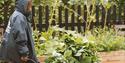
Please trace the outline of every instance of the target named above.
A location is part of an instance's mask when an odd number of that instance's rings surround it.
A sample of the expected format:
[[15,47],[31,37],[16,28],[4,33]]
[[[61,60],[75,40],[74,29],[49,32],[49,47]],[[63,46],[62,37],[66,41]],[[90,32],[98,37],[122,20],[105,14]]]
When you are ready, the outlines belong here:
[[32,0],[16,0],[0,46],[0,60],[10,63],[39,63],[35,54],[30,16]]

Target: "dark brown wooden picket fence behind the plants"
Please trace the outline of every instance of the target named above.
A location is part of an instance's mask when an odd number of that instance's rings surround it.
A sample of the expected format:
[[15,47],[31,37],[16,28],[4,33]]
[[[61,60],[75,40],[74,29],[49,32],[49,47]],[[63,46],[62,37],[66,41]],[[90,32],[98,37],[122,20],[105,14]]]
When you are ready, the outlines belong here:
[[[91,7],[91,6],[90,6]],[[50,6],[39,6],[37,7],[33,6],[33,19],[32,19],[32,26],[33,29],[38,29],[39,31],[45,31],[48,29],[50,25],[59,25],[59,27],[65,27],[67,30],[78,30],[78,32],[85,31],[86,28],[86,21],[87,21],[87,6],[81,6],[81,5],[72,5],[69,8],[75,11],[76,13],[72,12],[68,8],[64,8],[63,6],[58,7],[58,13],[57,15],[53,15],[53,20],[50,23]],[[14,11],[14,7],[10,7],[10,11],[8,10],[8,7],[4,7],[3,9],[3,22],[0,23],[1,28],[6,28],[6,25],[8,23],[9,17],[12,12]],[[91,9],[90,9],[91,12]],[[104,27],[104,20],[105,20],[105,14],[106,11],[103,6],[96,5],[95,10],[95,17],[96,21],[91,22],[90,28],[93,27]],[[79,18],[82,19],[79,19]],[[112,6],[108,12],[107,12],[107,26],[111,27],[111,25],[115,24],[125,24],[125,6]],[[37,22],[37,23],[36,23]]]

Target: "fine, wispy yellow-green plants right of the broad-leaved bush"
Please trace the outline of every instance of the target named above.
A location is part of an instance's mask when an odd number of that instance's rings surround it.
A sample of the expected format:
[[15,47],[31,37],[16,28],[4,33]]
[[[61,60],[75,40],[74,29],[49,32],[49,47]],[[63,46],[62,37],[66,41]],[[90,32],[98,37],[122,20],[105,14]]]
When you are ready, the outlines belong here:
[[[95,28],[87,32],[86,36],[96,42],[98,52],[125,50],[125,37],[119,36],[114,29]],[[92,39],[93,38],[93,39]]]

